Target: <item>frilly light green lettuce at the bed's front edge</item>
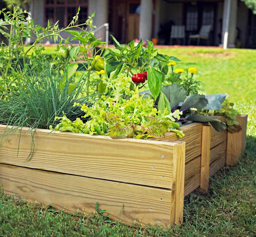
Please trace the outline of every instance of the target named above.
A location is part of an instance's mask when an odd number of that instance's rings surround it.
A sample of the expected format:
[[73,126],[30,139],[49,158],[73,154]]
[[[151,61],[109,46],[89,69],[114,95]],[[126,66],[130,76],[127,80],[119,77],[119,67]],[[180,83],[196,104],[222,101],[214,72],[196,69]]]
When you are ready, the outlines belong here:
[[[170,113],[165,109],[162,113],[154,108],[154,100],[139,96],[138,87],[132,96],[126,99],[127,91],[125,85],[127,77],[115,78],[106,82],[107,97],[96,101],[92,106],[75,103],[85,112],[84,118],[89,120],[84,123],[80,118],[75,121],[69,120],[65,115],[57,117],[60,123],[55,127],[58,131],[71,131],[76,133],[87,133],[107,135],[112,138],[150,138],[164,136],[167,131],[174,131],[182,137],[182,131],[178,131],[179,124],[174,122],[180,117],[180,112]],[[119,83],[117,82],[119,81]],[[130,93],[130,91],[129,91]]]

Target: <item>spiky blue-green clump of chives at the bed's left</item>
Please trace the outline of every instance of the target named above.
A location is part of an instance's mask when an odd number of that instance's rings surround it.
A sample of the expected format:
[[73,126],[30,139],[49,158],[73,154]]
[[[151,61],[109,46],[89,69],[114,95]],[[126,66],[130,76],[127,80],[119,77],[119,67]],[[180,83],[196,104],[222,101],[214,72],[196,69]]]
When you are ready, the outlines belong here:
[[[84,95],[86,80],[84,75],[73,84],[76,64],[66,64],[64,72],[55,71],[48,61],[40,63],[43,73],[30,68],[18,76],[15,86],[10,86],[11,94],[0,100],[0,121],[17,129],[18,127],[45,128],[53,125],[54,118],[65,111],[73,117],[74,101],[87,103],[90,97]],[[69,71],[72,73],[69,73]],[[31,76],[33,75],[33,76]],[[2,137],[3,135],[1,135]]]

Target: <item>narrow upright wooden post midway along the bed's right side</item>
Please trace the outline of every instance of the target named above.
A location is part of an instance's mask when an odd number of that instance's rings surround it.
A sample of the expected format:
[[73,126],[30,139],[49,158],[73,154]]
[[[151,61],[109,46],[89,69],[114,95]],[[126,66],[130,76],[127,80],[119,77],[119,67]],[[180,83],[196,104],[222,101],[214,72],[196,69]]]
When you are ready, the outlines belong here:
[[211,126],[203,126],[200,189],[207,191],[209,186]]

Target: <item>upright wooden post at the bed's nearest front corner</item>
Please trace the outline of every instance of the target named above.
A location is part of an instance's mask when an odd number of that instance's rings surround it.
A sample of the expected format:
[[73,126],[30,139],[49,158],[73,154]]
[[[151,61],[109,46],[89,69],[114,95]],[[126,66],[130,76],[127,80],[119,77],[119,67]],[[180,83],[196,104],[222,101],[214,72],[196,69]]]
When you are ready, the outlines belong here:
[[185,177],[185,143],[180,142],[174,146],[173,161],[172,208],[170,222],[180,225],[183,222],[184,205],[184,177]]

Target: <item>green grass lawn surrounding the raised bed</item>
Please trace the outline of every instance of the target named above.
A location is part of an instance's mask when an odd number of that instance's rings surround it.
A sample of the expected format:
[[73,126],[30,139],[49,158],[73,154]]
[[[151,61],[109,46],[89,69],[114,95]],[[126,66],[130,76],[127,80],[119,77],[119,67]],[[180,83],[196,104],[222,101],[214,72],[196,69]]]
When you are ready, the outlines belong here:
[[[47,53],[53,49],[47,48]],[[98,214],[71,216],[0,192],[0,236],[256,236],[256,50],[160,49],[198,68],[202,92],[226,93],[249,115],[246,156],[210,179],[209,192],[185,199],[184,223],[156,226],[108,224]],[[50,209],[49,209],[50,208]]]

